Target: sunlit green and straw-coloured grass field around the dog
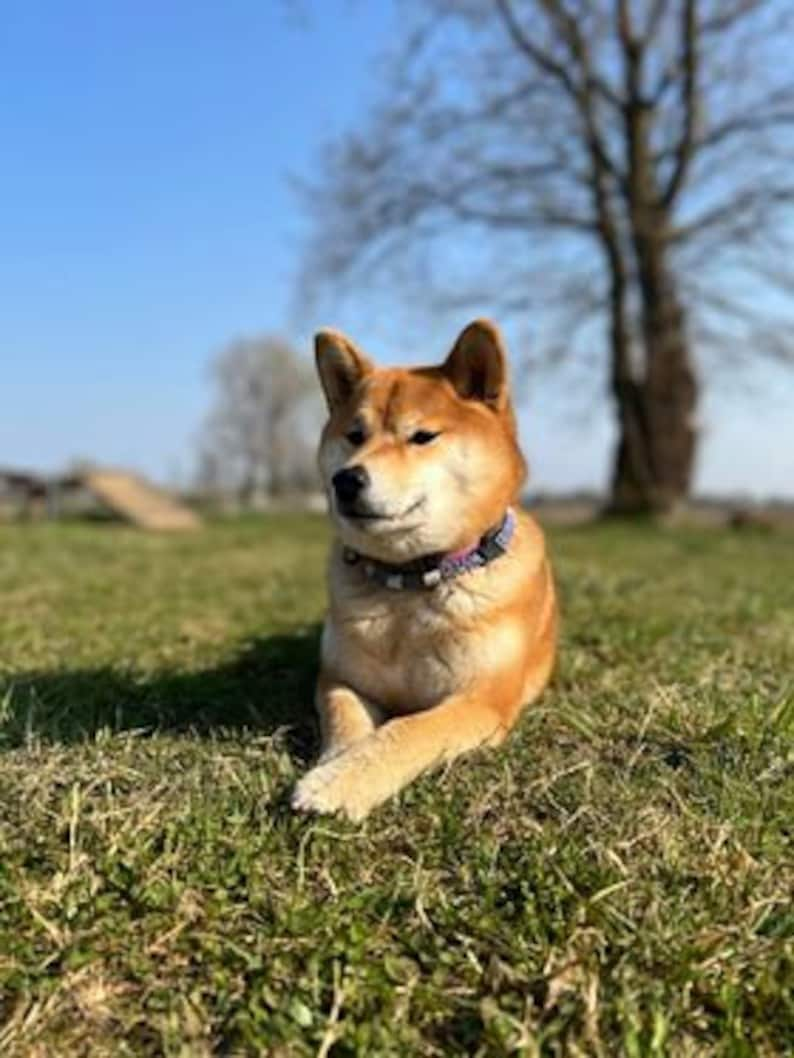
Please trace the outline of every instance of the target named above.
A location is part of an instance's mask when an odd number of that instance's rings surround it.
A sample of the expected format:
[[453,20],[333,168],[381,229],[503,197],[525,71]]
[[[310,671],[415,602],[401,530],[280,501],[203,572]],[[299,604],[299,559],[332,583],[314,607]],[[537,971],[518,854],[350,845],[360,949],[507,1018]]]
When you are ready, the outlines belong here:
[[0,1053],[794,1053],[794,540],[552,544],[552,691],[354,826],[322,521],[0,529]]

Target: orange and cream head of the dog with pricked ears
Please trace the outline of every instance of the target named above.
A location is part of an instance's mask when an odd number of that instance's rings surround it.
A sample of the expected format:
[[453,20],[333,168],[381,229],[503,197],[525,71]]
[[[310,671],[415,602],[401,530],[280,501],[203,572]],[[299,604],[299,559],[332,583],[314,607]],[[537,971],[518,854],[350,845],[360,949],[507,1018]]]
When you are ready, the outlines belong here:
[[499,522],[525,466],[493,324],[470,324],[438,367],[376,367],[333,330],[315,351],[330,413],[320,471],[345,544],[405,562],[467,547]]

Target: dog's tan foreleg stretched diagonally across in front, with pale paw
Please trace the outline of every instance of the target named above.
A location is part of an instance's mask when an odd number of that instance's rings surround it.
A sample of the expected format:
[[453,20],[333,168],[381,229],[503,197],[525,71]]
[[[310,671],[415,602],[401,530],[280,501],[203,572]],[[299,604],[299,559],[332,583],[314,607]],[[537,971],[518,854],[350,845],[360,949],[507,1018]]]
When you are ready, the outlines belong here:
[[[299,782],[293,807],[363,819],[420,772],[477,746],[502,741],[506,728],[488,691],[454,695],[425,712],[389,720]],[[492,700],[492,699],[491,699]]]

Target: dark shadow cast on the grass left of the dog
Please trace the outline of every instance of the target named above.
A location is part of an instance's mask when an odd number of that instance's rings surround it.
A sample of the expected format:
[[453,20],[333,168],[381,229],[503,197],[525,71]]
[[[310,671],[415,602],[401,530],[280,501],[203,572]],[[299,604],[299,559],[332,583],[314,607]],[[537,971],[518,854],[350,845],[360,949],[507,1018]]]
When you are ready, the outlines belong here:
[[101,731],[223,736],[287,729],[301,760],[315,748],[313,690],[320,625],[248,642],[233,660],[194,672],[57,669],[0,680],[0,749],[73,744]]

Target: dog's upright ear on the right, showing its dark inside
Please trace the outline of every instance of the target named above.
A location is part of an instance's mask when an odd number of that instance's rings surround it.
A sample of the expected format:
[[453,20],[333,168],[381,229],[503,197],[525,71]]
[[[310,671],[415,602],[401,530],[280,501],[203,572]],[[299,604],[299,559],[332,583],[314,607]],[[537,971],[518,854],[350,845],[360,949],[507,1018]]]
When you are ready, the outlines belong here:
[[507,351],[490,320],[475,320],[463,329],[443,371],[466,400],[482,401],[498,412],[509,403]]

